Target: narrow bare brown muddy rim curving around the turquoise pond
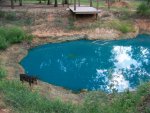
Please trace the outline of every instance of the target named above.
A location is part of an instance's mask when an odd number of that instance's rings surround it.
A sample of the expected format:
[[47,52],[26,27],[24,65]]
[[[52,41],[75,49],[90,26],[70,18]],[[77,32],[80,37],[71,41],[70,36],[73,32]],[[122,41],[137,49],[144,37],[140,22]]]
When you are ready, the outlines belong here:
[[[104,31],[105,29],[103,29]],[[97,32],[100,30],[97,29]],[[28,54],[28,50],[36,47],[38,45],[46,43],[57,43],[71,40],[87,39],[87,40],[97,40],[97,39],[108,39],[108,40],[117,40],[117,39],[126,39],[133,38],[139,34],[139,28],[136,27],[136,32],[128,34],[118,34],[110,35],[113,32],[110,31],[108,35],[101,34],[98,38],[94,35],[73,35],[73,36],[60,36],[60,37],[36,37],[31,43],[23,42],[20,44],[15,44],[7,48],[5,51],[0,51],[0,65],[4,66],[8,72],[8,80],[19,80],[19,74],[24,73],[24,69],[19,64],[20,61]],[[115,32],[116,33],[116,32]],[[145,32],[144,32],[145,33]],[[147,33],[147,32],[146,32]],[[148,32],[149,33],[149,32]],[[112,33],[113,34],[113,33]],[[25,85],[29,86],[27,83]],[[64,89],[60,86],[54,86],[42,81],[38,81],[37,85],[34,85],[32,91],[38,91],[40,94],[44,95],[48,99],[60,99],[64,102],[71,101],[73,103],[82,103],[83,98],[88,93],[86,90],[81,93],[73,93],[70,90]]]

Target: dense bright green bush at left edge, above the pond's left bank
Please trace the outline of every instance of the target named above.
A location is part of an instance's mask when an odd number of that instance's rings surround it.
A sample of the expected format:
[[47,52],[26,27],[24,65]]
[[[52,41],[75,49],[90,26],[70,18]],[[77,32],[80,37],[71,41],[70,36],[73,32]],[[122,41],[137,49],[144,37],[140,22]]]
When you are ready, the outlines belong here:
[[32,35],[26,34],[19,27],[0,27],[0,50],[24,40],[30,41],[32,38]]

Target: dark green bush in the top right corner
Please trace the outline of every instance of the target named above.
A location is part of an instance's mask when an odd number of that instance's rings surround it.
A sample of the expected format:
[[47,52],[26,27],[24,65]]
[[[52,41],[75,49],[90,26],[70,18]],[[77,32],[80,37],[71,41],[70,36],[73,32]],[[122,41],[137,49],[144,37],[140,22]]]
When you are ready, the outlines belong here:
[[144,3],[139,5],[137,8],[137,13],[141,16],[150,17],[150,6]]

